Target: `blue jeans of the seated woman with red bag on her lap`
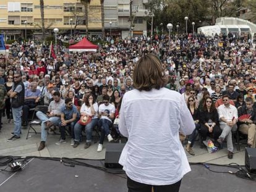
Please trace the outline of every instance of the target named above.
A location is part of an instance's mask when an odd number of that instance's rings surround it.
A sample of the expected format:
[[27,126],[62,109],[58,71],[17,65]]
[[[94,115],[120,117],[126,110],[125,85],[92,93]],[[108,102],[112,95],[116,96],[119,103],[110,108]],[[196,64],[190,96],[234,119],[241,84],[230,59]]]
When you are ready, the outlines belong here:
[[87,125],[80,125],[78,122],[75,123],[74,133],[75,133],[75,141],[80,141],[81,130],[85,127],[86,134],[86,142],[92,142],[92,131],[93,128],[98,125],[98,118],[92,119],[90,123]]

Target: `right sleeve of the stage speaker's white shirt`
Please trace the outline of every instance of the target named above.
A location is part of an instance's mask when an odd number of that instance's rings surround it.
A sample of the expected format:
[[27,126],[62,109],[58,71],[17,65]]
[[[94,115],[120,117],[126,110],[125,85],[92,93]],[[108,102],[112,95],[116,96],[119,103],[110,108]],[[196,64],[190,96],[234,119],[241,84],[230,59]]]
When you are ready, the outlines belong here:
[[193,117],[189,111],[189,108],[186,105],[186,102],[181,97],[181,107],[180,107],[180,122],[181,127],[179,131],[184,133],[184,135],[190,135],[195,129],[195,123]]

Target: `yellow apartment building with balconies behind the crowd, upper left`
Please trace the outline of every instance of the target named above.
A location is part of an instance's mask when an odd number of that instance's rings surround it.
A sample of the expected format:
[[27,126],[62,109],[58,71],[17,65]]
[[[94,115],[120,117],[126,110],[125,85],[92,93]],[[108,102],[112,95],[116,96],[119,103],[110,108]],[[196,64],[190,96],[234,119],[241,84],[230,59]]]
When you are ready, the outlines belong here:
[[[85,33],[85,6],[77,0],[44,0],[46,33],[80,30]],[[1,0],[0,32],[6,40],[19,36],[28,37],[41,32],[40,0]],[[100,0],[92,0],[88,6],[88,31],[90,36],[101,35]]]

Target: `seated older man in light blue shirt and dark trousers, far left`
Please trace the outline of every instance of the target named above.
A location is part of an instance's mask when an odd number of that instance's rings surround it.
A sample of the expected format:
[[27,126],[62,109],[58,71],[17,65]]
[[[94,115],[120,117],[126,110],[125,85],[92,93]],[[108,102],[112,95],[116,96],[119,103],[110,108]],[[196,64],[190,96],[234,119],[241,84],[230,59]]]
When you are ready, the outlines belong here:
[[35,108],[35,106],[38,104],[40,100],[41,91],[37,89],[37,83],[32,82],[30,86],[31,88],[25,91],[25,100],[23,104],[23,114],[22,114],[23,126],[28,125],[29,110]]

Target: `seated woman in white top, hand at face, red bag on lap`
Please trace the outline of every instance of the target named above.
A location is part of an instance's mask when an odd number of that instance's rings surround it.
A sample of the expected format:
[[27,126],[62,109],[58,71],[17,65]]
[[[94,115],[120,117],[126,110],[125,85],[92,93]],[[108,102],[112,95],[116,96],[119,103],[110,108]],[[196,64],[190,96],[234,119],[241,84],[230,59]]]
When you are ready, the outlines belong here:
[[96,125],[98,125],[98,104],[95,102],[95,98],[93,94],[88,94],[88,96],[85,96],[84,101],[85,102],[82,104],[82,107],[80,109],[80,115],[81,116],[86,115],[87,118],[90,116],[92,117],[92,121],[87,125],[80,125],[79,122],[75,123],[75,127],[74,127],[75,143],[73,148],[76,148],[77,146],[79,146],[82,128],[85,128],[85,133],[86,133],[86,143],[84,148],[85,149],[89,148],[92,145],[93,128]]

